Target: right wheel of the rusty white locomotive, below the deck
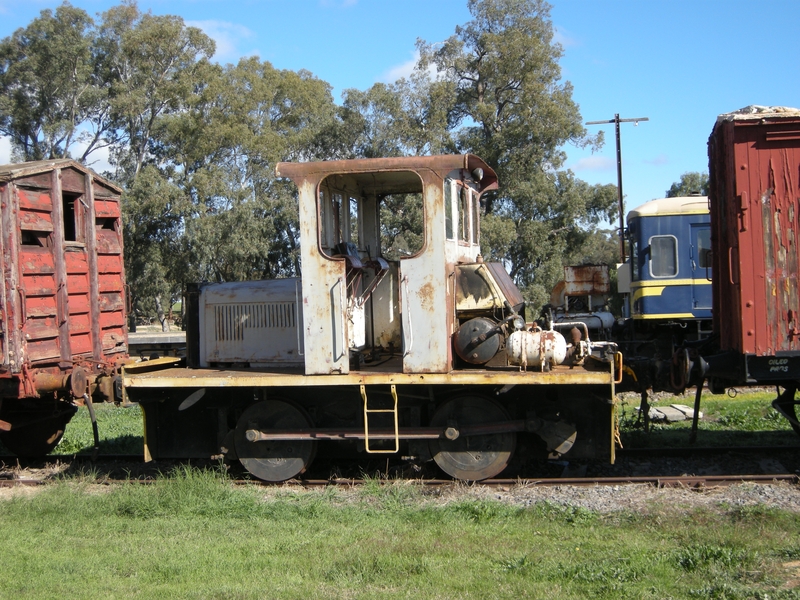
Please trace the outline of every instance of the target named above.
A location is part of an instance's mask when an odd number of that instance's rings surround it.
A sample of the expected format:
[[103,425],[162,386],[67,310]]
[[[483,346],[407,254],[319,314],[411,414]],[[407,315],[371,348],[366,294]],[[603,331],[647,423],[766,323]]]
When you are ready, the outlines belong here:
[[[482,396],[462,396],[443,404],[431,419],[433,427],[481,425],[508,421],[505,409]],[[459,436],[431,440],[430,451],[439,467],[455,479],[480,481],[494,477],[508,465],[517,443],[516,433]]]

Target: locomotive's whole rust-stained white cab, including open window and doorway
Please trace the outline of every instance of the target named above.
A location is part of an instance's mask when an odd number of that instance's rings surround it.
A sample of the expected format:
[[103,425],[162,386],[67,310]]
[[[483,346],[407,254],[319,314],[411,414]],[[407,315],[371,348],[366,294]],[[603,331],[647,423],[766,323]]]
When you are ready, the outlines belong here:
[[306,374],[450,371],[460,265],[479,259],[494,172],[474,156],[337,167],[277,168],[299,187]]

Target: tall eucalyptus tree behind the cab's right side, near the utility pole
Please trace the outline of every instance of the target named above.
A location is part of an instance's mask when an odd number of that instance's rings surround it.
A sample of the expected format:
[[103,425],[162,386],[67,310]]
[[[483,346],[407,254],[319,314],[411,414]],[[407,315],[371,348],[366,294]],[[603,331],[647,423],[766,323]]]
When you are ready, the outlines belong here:
[[564,170],[566,145],[603,140],[587,134],[572,85],[561,80],[563,49],[547,3],[469,0],[468,7],[472,20],[443,43],[418,42],[417,68],[451,86],[447,121],[459,151],[497,170],[501,188],[485,197],[484,252],[504,261],[538,303],[562,276],[564,257],[575,256],[581,232],[615,214],[612,186],[590,186]]

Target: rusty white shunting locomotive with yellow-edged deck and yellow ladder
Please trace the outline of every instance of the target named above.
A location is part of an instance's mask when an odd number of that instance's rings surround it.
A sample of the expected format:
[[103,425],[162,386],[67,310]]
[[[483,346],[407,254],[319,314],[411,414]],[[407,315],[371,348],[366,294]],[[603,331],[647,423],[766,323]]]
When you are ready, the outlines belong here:
[[[621,356],[583,323],[535,326],[503,266],[482,260],[479,202],[497,185],[487,164],[385,158],[277,174],[298,189],[302,278],[190,292],[188,366],[125,370],[150,457],[237,458],[281,481],[323,449],[434,460],[465,480],[501,473],[518,446],[613,456]],[[394,256],[381,246],[387,206],[424,215]]]

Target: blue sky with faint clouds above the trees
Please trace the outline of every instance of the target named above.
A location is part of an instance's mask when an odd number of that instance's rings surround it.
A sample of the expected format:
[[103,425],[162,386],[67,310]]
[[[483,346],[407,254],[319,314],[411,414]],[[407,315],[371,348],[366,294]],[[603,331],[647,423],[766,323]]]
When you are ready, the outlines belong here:
[[[0,0],[0,37],[50,0]],[[74,0],[95,15],[118,4]],[[800,0],[554,0],[562,77],[584,121],[622,125],[626,210],[662,197],[682,173],[706,171],[718,114],[749,104],[800,106]],[[140,0],[217,41],[216,60],[258,55],[306,69],[334,88],[366,89],[413,65],[417,38],[436,42],[469,20],[466,0]],[[614,127],[594,154],[568,146],[566,166],[589,183],[616,183]],[[0,141],[0,164],[8,144]],[[502,182],[500,182],[502,185]]]

